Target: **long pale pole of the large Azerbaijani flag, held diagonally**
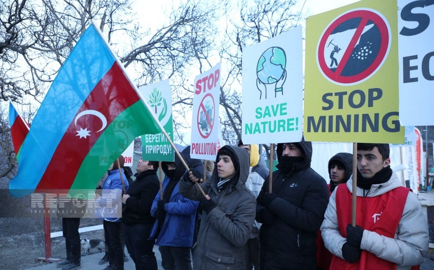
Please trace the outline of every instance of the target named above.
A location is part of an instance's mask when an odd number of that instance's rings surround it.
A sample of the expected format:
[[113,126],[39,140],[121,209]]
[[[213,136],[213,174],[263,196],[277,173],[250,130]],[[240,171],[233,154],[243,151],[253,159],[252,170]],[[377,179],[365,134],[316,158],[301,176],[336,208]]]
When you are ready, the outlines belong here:
[[[164,136],[166,137],[167,141],[171,144],[172,148],[175,150],[175,153],[178,155],[178,157],[181,159],[182,164],[184,165],[185,169],[187,171],[189,171],[190,169],[188,168],[187,163],[185,162],[184,158],[182,157],[181,153],[178,151],[178,149],[176,148],[175,144],[172,142],[171,138],[168,136],[166,130],[164,129],[164,127],[161,125],[160,121],[158,121],[158,119],[156,118],[156,116],[152,113],[151,108],[149,107],[148,103],[144,101],[143,96],[141,95],[140,91],[137,89],[136,84],[133,83],[133,81],[131,80],[130,76],[128,76],[127,71],[124,68],[124,65],[120,62],[119,58],[116,56],[116,54],[111,50],[110,48],[110,44],[108,44],[108,42],[106,41],[106,39],[103,36],[103,33],[101,32],[101,30],[97,27],[97,25],[95,25],[95,23],[93,22],[93,20],[90,20],[93,27],[95,28],[95,30],[97,30],[98,34],[100,35],[101,39],[104,40],[104,42],[106,43],[107,48],[109,49],[109,51],[111,52],[111,54],[113,55],[116,63],[118,64],[118,66],[120,67],[120,69],[122,69],[122,71],[124,72],[125,77],[128,79],[128,81],[130,82],[131,86],[133,87],[134,91],[136,91],[137,95],[140,97],[141,102],[144,104],[144,106],[146,107],[146,109],[148,109],[148,111],[150,112],[151,117],[154,119],[155,123],[157,123],[158,127],[160,128],[160,130],[163,132]],[[199,182],[196,182],[196,186],[199,188],[199,191],[202,193],[202,195],[205,197],[206,193],[203,191],[201,185],[199,184]]]

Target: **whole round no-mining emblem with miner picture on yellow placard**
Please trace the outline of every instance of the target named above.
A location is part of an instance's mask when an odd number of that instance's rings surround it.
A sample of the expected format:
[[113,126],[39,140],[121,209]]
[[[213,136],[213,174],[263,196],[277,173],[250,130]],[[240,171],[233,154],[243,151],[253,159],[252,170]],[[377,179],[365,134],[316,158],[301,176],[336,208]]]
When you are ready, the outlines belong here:
[[317,47],[317,64],[325,78],[338,85],[354,85],[381,67],[391,45],[391,30],[376,10],[355,9],[326,27]]

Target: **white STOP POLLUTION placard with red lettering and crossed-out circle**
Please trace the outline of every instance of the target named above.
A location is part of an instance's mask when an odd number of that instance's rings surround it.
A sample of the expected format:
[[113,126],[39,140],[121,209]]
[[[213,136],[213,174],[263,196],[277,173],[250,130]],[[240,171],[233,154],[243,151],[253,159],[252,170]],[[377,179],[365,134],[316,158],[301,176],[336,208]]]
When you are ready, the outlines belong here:
[[221,63],[196,76],[191,121],[191,158],[214,160],[217,154]]

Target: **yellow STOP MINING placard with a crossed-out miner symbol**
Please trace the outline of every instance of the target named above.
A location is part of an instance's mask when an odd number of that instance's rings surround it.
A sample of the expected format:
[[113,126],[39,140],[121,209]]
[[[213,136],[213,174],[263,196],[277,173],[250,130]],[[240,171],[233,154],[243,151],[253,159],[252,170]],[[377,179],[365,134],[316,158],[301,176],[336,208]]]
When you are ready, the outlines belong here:
[[403,143],[396,1],[365,0],[308,17],[304,136]]

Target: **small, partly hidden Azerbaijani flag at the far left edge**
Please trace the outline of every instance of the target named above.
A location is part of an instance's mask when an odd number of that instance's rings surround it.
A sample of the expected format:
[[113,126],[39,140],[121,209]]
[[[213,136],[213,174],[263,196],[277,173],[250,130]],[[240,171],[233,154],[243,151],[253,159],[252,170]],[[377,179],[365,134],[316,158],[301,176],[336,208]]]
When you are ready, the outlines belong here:
[[19,149],[27,133],[29,133],[29,124],[18,113],[11,99],[9,99],[9,125],[11,126],[12,144],[14,145],[16,158],[18,159]]

